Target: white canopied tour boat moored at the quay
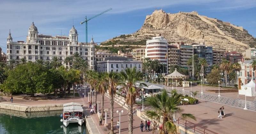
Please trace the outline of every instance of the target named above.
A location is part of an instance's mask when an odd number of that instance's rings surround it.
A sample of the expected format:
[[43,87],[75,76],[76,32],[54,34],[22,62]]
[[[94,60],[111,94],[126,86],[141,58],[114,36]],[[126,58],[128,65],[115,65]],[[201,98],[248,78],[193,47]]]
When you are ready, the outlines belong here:
[[84,110],[80,103],[70,102],[63,104],[63,122],[65,127],[69,123],[78,123],[80,126],[84,123]]

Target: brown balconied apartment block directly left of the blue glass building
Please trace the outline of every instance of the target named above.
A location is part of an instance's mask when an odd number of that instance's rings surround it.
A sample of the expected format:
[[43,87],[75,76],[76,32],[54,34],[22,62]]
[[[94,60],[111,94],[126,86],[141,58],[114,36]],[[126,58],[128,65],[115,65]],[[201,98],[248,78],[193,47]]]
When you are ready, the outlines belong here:
[[188,68],[187,61],[193,55],[193,47],[190,45],[180,45],[180,66]]

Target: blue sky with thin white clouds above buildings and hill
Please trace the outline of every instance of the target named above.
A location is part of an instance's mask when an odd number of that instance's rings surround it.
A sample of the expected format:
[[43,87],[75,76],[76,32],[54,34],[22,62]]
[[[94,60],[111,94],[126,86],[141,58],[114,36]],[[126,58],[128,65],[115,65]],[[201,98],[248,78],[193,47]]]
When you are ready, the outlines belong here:
[[197,11],[200,15],[243,26],[256,37],[256,0],[0,0],[0,47],[6,52],[11,29],[13,41],[26,41],[34,21],[39,34],[68,35],[74,25],[79,42],[85,42],[85,16],[88,42],[102,42],[141,28],[147,15],[157,9],[167,13]]

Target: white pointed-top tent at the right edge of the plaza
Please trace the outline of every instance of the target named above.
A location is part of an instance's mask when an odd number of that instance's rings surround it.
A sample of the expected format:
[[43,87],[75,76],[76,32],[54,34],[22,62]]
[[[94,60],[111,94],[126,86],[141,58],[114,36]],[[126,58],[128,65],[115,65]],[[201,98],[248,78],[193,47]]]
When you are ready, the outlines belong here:
[[[244,87],[247,87],[247,89],[245,90]],[[255,96],[256,94],[256,90],[255,90],[255,83],[253,82],[253,80],[251,80],[249,83],[241,86],[241,89],[238,90],[238,93],[241,95],[245,95],[246,92],[246,96]]]

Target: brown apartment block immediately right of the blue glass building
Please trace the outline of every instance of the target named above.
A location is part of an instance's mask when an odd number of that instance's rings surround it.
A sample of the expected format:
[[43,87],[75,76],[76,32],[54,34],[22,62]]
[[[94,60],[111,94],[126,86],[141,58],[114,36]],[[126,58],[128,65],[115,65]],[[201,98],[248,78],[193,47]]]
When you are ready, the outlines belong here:
[[213,64],[218,64],[220,65],[222,59],[226,59],[226,49],[222,48],[212,48],[212,59],[213,59]]

